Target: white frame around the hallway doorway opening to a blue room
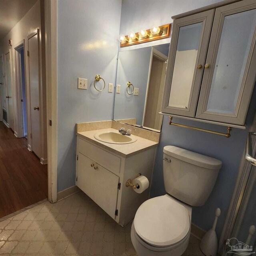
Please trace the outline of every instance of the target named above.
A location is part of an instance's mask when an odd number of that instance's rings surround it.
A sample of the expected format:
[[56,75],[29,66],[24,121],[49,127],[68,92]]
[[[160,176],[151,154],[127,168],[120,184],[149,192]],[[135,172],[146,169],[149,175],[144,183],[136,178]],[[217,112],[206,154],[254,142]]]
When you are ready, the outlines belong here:
[[[14,45],[14,77],[15,77],[15,84],[16,84],[16,111],[17,111],[17,120],[16,120],[16,132],[14,135],[17,138],[24,137],[24,124],[23,124],[23,108],[21,107],[21,99],[22,99],[22,91],[21,91],[21,66],[20,66],[20,53],[18,52],[21,48],[24,49],[24,69],[25,69],[25,88],[26,88],[26,98],[28,94],[27,90],[27,81],[26,81],[26,57],[25,57],[25,40],[21,40],[17,44]],[[28,126],[28,103],[26,104],[26,112],[27,112],[27,126]],[[29,134],[29,132],[28,132]]]

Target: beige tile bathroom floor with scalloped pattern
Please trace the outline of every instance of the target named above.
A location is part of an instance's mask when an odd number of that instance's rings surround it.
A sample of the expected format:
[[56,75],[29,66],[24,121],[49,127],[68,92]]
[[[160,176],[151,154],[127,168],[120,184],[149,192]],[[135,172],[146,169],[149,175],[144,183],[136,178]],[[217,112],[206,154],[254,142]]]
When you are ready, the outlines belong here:
[[[136,255],[122,228],[86,194],[42,202],[0,222],[0,255]],[[203,255],[191,236],[184,255]]]

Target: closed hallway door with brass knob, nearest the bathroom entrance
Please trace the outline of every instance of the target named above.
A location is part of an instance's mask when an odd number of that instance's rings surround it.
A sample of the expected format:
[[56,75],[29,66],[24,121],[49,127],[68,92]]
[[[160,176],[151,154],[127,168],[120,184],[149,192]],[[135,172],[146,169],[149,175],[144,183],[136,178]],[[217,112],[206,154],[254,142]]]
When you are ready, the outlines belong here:
[[38,33],[28,38],[32,151],[40,158],[39,47]]

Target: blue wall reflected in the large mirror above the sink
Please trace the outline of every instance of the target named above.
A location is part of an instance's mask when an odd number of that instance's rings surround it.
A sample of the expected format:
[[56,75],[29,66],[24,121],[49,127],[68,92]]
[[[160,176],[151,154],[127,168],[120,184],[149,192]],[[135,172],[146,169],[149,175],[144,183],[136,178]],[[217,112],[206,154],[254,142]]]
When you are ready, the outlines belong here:
[[[119,52],[116,84],[121,85],[120,94],[115,96],[114,120],[136,118],[136,124],[142,125],[148,74],[152,47]],[[139,95],[128,95],[127,82],[139,88]],[[130,91],[132,92],[132,88]]]

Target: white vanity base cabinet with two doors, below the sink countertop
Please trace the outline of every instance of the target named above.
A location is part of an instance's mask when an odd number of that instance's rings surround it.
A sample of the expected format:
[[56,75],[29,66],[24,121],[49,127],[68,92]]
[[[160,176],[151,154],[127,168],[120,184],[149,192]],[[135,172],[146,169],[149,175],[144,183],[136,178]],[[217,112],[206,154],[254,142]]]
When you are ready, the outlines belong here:
[[76,186],[121,226],[128,224],[138,207],[149,198],[126,187],[138,173],[151,184],[156,146],[130,157],[120,156],[77,136]]

